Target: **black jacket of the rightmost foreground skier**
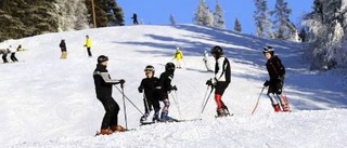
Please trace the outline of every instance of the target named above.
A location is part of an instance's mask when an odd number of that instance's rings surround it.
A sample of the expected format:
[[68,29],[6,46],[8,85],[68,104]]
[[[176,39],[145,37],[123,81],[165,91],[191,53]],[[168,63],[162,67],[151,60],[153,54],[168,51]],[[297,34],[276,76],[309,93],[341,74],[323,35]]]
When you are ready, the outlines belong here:
[[281,59],[274,55],[273,57],[269,58],[267,64],[267,70],[269,72],[269,77],[270,77],[270,82],[271,83],[275,83],[278,82],[280,79],[284,78],[285,75],[285,68],[282,65]]

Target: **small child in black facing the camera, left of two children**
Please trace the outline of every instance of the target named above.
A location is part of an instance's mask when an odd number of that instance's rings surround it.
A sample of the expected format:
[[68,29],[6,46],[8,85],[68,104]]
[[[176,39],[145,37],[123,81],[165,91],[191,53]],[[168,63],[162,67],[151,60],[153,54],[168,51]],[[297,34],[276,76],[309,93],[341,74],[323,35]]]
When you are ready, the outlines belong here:
[[141,117],[140,122],[144,122],[147,120],[147,117],[152,111],[152,107],[154,108],[154,116],[152,120],[158,121],[160,105],[159,100],[155,96],[155,86],[159,79],[154,77],[155,70],[152,65],[147,65],[144,68],[144,73],[146,78],[142,79],[140,86],[138,88],[140,93],[144,91],[143,104],[145,113]]

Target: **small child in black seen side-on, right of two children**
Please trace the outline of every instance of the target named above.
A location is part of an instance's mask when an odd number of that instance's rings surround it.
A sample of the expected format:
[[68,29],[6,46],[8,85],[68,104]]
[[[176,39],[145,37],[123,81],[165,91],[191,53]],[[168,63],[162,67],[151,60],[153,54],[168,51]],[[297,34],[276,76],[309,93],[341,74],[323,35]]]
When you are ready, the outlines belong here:
[[156,85],[157,98],[164,103],[162,109],[160,121],[170,121],[168,117],[170,100],[168,94],[171,91],[177,91],[176,85],[171,85],[171,80],[174,79],[175,64],[167,63],[165,65],[165,71],[160,75],[159,81]]

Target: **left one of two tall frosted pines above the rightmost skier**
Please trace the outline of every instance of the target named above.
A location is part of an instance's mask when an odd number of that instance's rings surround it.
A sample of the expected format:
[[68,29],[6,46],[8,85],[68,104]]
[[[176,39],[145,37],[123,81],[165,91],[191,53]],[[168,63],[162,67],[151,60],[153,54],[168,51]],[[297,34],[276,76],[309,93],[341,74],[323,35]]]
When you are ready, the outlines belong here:
[[267,1],[255,0],[255,6],[256,11],[254,12],[254,18],[256,22],[257,36],[262,38],[274,38]]

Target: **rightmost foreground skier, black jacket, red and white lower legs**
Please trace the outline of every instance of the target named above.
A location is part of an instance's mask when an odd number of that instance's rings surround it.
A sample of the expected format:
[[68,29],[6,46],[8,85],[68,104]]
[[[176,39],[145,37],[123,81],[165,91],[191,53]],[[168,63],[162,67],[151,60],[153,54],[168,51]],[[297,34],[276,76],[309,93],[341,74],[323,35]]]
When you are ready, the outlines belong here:
[[269,86],[267,95],[271,100],[272,107],[275,112],[281,111],[280,105],[275,99],[275,97],[278,97],[278,99],[281,103],[283,111],[290,111],[287,104],[281,97],[284,77],[285,77],[285,68],[282,65],[282,62],[279,58],[279,56],[274,55],[274,51],[272,46],[265,46],[262,49],[262,54],[268,59],[266,66],[270,77],[270,80],[267,80],[264,83],[264,86]]

